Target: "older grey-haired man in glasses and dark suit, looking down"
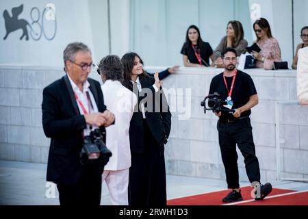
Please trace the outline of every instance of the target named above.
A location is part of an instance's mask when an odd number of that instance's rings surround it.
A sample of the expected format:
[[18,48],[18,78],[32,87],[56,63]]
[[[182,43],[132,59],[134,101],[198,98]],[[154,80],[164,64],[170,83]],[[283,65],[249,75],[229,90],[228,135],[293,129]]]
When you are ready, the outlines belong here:
[[[99,205],[104,161],[80,162],[84,136],[114,122],[106,110],[98,81],[89,79],[91,51],[80,42],[64,50],[66,75],[43,90],[42,125],[51,138],[47,181],[57,184],[60,205]],[[102,156],[101,156],[102,157]]]

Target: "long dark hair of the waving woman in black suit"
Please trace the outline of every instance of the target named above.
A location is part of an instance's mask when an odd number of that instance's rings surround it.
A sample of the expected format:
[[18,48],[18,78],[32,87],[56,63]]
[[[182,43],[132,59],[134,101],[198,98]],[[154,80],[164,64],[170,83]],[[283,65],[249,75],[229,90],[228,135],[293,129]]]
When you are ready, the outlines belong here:
[[[129,88],[129,87],[132,88],[131,70],[133,70],[133,63],[135,62],[135,57],[138,57],[140,59],[141,64],[143,65],[143,61],[137,53],[133,53],[133,52],[125,53],[125,55],[123,55],[123,57],[121,58],[121,62],[122,62],[123,67],[124,67],[122,84],[126,88]],[[143,72],[139,77],[141,77],[141,78],[142,77],[149,77],[149,75],[147,75],[144,70],[142,70],[142,71]]]

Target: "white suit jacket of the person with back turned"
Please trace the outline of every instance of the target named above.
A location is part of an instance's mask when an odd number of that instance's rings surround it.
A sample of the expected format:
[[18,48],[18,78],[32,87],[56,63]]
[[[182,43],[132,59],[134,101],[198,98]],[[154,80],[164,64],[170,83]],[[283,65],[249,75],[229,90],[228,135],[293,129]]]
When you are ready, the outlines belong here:
[[104,170],[124,170],[131,166],[129,123],[137,103],[137,96],[120,81],[107,80],[101,88],[104,103],[116,118],[114,125],[106,127],[106,146],[112,151],[112,157]]

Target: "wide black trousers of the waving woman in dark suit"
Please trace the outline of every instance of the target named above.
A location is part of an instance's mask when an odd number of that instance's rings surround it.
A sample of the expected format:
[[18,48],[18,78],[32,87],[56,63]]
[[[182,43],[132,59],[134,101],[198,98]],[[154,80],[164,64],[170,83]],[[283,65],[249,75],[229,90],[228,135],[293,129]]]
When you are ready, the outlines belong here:
[[165,206],[167,194],[164,145],[157,144],[145,121],[143,127],[144,151],[131,154],[129,205]]

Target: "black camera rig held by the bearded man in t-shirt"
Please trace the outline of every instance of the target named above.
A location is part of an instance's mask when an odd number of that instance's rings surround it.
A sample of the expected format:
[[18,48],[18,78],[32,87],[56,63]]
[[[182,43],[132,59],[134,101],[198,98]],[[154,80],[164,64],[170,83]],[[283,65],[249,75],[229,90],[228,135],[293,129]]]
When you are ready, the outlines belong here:
[[[207,101],[207,105],[206,105]],[[214,94],[209,94],[208,96],[205,96],[205,99],[201,101],[201,107],[204,108],[204,113],[207,112],[207,110],[211,110],[213,112],[229,112],[233,113],[234,110],[229,110],[223,105],[227,105],[227,101],[222,101],[220,99],[220,94],[218,92],[214,92]]]

